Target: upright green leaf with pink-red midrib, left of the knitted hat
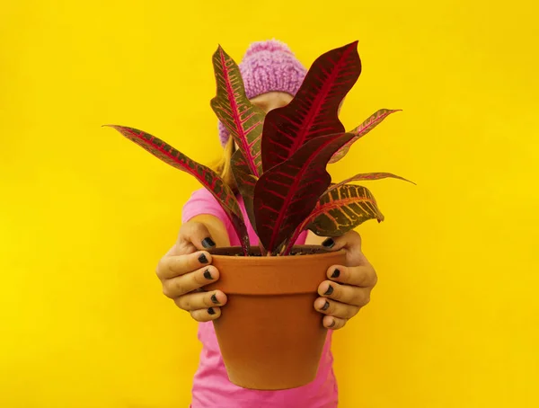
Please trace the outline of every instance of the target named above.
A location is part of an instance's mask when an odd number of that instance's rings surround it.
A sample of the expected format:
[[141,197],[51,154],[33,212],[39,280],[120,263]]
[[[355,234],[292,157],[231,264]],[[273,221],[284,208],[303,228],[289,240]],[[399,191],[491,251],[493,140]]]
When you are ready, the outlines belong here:
[[261,137],[265,112],[253,105],[243,87],[240,69],[220,46],[213,57],[217,93],[211,107],[243,153],[256,177],[262,173]]

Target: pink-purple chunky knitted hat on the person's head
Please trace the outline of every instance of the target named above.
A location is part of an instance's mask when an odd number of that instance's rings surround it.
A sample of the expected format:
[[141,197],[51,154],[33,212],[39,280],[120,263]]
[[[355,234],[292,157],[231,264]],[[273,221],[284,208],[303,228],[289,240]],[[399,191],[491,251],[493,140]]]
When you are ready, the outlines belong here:
[[[249,99],[272,91],[294,96],[307,74],[287,44],[278,40],[253,42],[239,67]],[[228,129],[219,121],[221,145],[226,145],[228,137]]]

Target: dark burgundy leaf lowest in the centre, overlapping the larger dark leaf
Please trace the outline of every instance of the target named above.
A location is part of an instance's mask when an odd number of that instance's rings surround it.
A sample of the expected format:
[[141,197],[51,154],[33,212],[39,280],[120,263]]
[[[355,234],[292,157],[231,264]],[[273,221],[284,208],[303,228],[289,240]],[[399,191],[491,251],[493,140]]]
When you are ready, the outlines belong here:
[[277,253],[308,217],[331,183],[326,165],[354,135],[316,137],[287,161],[263,173],[254,189],[257,233],[269,253]]

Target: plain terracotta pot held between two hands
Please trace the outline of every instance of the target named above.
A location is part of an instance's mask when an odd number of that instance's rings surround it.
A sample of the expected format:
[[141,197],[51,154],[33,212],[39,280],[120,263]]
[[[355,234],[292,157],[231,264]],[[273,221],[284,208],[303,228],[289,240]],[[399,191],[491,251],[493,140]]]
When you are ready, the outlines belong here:
[[[345,262],[344,251],[319,246],[292,256],[225,256],[240,248],[211,251],[220,278],[208,290],[228,297],[214,322],[226,371],[244,388],[279,390],[314,380],[326,339],[323,315],[314,310],[317,289],[331,265]],[[252,248],[252,253],[259,253]]]

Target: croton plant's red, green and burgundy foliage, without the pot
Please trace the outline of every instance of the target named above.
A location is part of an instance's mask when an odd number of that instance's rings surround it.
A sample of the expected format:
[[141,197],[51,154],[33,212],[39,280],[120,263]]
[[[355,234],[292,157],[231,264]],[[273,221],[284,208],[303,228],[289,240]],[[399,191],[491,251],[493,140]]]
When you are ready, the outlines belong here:
[[[289,254],[307,229],[339,236],[368,219],[384,219],[372,193],[350,182],[402,177],[361,173],[332,183],[326,170],[396,111],[376,111],[357,128],[345,131],[339,120],[340,103],[361,73],[357,48],[355,41],[317,58],[294,99],[267,114],[247,98],[234,59],[220,46],[213,56],[216,97],[211,107],[238,147],[232,171],[263,254]],[[111,127],[202,183],[225,210],[243,254],[249,256],[249,235],[237,196],[216,172],[142,130]]]

